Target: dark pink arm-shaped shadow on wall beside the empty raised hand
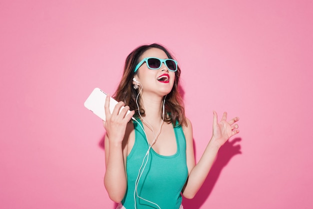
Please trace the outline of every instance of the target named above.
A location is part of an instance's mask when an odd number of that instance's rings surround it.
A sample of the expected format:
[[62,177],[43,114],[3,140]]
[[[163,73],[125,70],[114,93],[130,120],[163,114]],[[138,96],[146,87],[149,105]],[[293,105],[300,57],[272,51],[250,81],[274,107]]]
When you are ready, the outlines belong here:
[[[239,144],[236,142],[241,141],[241,138],[234,138],[228,140],[222,145],[217,153],[216,160],[212,165],[205,181],[203,182],[201,188],[198,190],[197,194],[193,199],[183,198],[182,205],[184,209],[200,209],[201,205],[205,202],[207,197],[210,195],[211,191],[214,188],[215,183],[217,182],[218,176],[221,173],[221,170],[224,166],[227,165],[229,160],[236,154],[241,154]],[[194,143],[194,141],[193,141]],[[193,144],[193,147],[194,144]],[[195,151],[194,151],[195,152]]]

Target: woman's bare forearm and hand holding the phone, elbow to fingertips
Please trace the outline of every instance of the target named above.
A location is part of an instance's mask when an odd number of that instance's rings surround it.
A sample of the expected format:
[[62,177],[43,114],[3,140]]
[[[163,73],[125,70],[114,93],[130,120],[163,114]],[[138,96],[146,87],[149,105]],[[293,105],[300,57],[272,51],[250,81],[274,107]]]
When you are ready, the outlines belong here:
[[[126,178],[126,156],[127,156],[127,140],[129,136],[129,128],[131,123],[128,123],[133,111],[126,114],[129,109],[125,106],[119,113],[119,109],[123,106],[123,102],[116,104],[112,113],[109,112],[109,96],[105,100],[105,117],[106,121],[103,121],[104,128],[106,130],[104,139],[105,149],[105,175],[104,186],[107,193],[115,202],[120,202],[125,195],[127,188]],[[127,134],[125,134],[127,133]]]

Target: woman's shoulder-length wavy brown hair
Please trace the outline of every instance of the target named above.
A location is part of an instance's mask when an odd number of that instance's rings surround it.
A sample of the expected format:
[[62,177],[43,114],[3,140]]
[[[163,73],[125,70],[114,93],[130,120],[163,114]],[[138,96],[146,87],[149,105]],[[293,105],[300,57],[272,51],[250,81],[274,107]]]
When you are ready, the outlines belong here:
[[[119,85],[114,93],[114,98],[117,101],[123,101],[126,105],[130,107],[130,109],[135,110],[134,117],[139,116],[138,111],[140,111],[141,115],[144,115],[144,109],[140,102],[140,95],[138,96],[138,106],[136,104],[136,96],[138,94],[138,90],[133,88],[132,78],[136,74],[134,72],[135,66],[139,63],[140,56],[149,48],[159,48],[163,50],[168,58],[174,59],[174,57],[170,54],[170,52],[162,45],[158,43],[152,43],[150,45],[141,45],[135,48],[130,54],[127,56],[124,65],[123,75],[119,82]],[[181,95],[178,90],[179,86],[179,77],[180,77],[180,68],[177,66],[177,71],[175,72],[174,84],[171,91],[166,95],[165,99],[165,117],[164,121],[167,123],[172,123],[175,126],[178,125],[187,125],[186,117],[184,113],[184,106]],[[162,117],[161,113],[161,117]],[[176,124],[177,123],[177,124]]]

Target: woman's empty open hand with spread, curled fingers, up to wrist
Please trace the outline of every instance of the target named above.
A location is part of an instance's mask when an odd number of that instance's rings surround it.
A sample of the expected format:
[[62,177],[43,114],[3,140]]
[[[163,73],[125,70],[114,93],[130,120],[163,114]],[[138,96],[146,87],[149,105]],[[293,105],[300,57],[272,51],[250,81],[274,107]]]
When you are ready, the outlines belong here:
[[219,146],[223,145],[228,138],[239,132],[238,124],[235,123],[238,120],[239,117],[234,117],[227,121],[227,112],[224,112],[220,122],[218,122],[217,113],[213,111],[213,134],[211,140],[217,142]]

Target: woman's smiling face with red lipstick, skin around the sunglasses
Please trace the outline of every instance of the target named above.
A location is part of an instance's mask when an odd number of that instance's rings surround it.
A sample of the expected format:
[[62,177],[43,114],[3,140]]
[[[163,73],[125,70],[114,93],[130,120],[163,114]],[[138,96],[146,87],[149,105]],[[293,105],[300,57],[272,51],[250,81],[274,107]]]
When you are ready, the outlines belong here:
[[[149,48],[140,56],[139,61],[145,57],[151,56],[160,59],[168,58],[163,50],[159,48]],[[162,63],[159,69],[149,69],[146,62],[144,62],[138,68],[134,77],[141,83],[144,93],[153,92],[164,96],[168,94],[173,87],[175,72],[169,71],[164,63]]]

